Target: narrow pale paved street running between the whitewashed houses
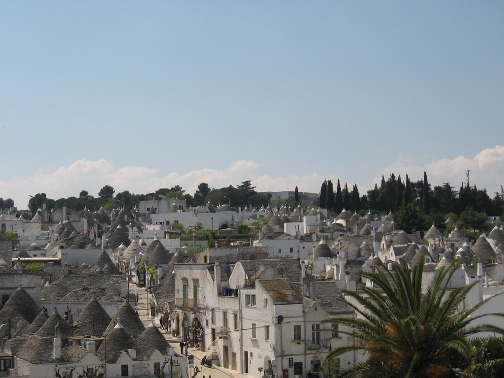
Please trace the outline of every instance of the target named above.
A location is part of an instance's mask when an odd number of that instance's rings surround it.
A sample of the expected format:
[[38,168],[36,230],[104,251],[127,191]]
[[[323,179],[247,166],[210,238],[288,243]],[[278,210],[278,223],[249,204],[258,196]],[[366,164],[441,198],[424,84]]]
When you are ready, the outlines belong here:
[[[144,288],[140,287],[133,287],[131,288],[132,292],[135,293],[138,290],[138,303],[136,305],[136,310],[138,311],[138,315],[140,317],[140,320],[142,323],[147,327],[151,322],[154,322],[156,327],[159,328],[159,322],[154,321],[154,318],[150,317],[150,309],[149,309],[149,317],[147,316],[147,306],[148,306],[148,300],[151,298],[151,294],[147,296],[147,291]],[[133,303],[132,303],[133,304]],[[180,355],[180,338],[174,338],[171,333],[166,332],[166,330],[160,330],[161,333],[164,335],[170,346],[173,348],[176,354]],[[241,377],[241,378],[253,378],[252,375],[249,374],[242,374],[239,371],[231,370],[231,369],[226,369],[221,366],[216,366],[212,365],[211,368],[207,366],[202,366],[201,365],[201,359],[206,352],[202,352],[197,348],[189,348],[188,349],[188,354],[194,356],[194,366],[198,366],[200,369],[200,372],[196,375],[198,378],[202,378],[205,376],[205,378],[229,378],[229,377]],[[194,369],[190,372],[190,374],[194,374]],[[258,376],[254,378],[260,378],[259,372]]]

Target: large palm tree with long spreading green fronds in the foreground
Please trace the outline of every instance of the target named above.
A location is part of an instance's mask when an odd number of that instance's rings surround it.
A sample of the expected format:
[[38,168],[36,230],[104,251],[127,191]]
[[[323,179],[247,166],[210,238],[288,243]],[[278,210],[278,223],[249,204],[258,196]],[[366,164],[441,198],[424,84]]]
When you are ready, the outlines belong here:
[[469,364],[471,344],[468,336],[480,332],[503,334],[491,324],[471,325],[487,315],[471,316],[487,300],[459,311],[459,303],[474,282],[457,289],[448,284],[459,264],[440,269],[422,291],[424,259],[411,270],[406,263],[394,264],[389,272],[383,265],[375,272],[360,275],[370,281],[363,293],[343,290],[341,299],[358,313],[358,318],[333,318],[327,323],[348,327],[340,331],[355,338],[355,345],[342,346],[330,352],[333,358],[349,351],[368,355],[340,373],[340,377],[411,377],[444,378],[460,376]]

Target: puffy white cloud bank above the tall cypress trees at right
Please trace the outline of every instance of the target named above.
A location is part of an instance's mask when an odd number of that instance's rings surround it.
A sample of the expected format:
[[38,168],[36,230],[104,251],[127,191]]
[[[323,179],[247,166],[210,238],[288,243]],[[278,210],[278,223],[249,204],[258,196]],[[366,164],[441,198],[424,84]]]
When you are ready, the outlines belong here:
[[[401,158],[382,172],[385,179],[394,172],[396,175],[400,174],[403,179],[408,173],[410,179],[418,180],[423,178],[425,171],[431,185],[450,182],[452,186],[458,188],[461,182],[466,182],[468,169],[471,170],[469,175],[471,185],[486,188],[492,197],[494,192],[500,190],[500,185],[504,185],[504,146],[496,145],[495,148],[484,149],[473,158],[460,155],[454,159],[440,159],[423,166]],[[374,177],[372,184],[380,185],[381,179],[381,174]]]

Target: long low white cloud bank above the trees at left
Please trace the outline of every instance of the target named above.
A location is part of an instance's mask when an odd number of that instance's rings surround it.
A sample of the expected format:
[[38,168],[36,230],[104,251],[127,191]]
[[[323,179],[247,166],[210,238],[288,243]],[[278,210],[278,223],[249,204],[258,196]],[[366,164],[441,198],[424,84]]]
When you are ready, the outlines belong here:
[[78,196],[81,190],[97,195],[100,188],[112,185],[115,192],[129,190],[132,193],[153,192],[160,187],[182,186],[193,194],[200,182],[210,187],[236,185],[250,179],[258,191],[294,190],[297,185],[301,191],[318,191],[324,177],[318,174],[307,176],[290,175],[271,177],[260,172],[261,164],[251,160],[237,160],[225,169],[204,168],[184,174],[170,173],[159,175],[158,170],[148,167],[126,166],[114,168],[108,161],[77,160],[68,167],[60,167],[54,172],[35,172],[30,177],[14,177],[0,181],[0,193],[4,198],[14,199],[18,208],[25,208],[30,195],[46,193],[47,197],[58,199]]

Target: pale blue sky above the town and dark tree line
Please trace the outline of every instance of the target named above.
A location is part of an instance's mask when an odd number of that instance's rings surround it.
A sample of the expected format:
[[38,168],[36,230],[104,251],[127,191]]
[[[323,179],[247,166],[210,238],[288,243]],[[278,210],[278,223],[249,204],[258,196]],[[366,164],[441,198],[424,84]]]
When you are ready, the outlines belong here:
[[503,2],[2,2],[0,197],[76,195],[57,172],[78,161],[91,193],[124,167],[318,191],[500,156],[503,19]]

